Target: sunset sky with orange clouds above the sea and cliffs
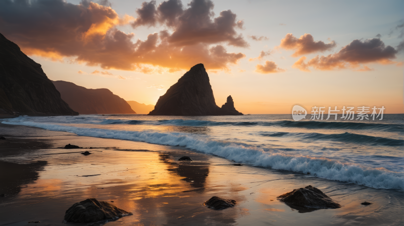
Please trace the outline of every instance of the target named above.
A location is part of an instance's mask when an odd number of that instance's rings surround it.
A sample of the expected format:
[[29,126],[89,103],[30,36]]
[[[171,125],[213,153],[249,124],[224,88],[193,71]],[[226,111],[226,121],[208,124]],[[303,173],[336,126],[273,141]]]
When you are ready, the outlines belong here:
[[204,63],[218,106],[404,113],[403,1],[2,0],[0,33],[51,80],[156,104]]

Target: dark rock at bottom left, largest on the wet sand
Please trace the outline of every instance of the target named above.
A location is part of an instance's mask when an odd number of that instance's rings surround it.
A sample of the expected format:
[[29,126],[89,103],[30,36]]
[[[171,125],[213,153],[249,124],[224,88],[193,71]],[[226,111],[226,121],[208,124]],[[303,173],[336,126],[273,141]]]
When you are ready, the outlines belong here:
[[120,209],[108,202],[89,198],[73,204],[68,210],[66,210],[64,222],[91,223],[117,219],[126,215],[132,215],[132,213]]

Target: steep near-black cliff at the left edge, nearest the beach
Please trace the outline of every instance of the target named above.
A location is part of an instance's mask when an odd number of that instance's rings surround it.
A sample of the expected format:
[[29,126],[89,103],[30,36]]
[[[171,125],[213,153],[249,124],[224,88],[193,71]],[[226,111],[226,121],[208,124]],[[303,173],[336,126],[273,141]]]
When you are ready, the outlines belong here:
[[0,34],[0,114],[77,115],[42,67]]

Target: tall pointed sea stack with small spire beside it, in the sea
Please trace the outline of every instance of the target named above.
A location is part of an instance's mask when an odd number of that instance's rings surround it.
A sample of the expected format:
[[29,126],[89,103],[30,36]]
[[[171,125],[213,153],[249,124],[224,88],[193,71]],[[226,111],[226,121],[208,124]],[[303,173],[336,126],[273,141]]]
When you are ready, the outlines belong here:
[[[231,101],[229,101],[229,99]],[[231,96],[224,108],[216,105],[204,64],[196,64],[157,101],[148,115],[242,115],[234,108]]]

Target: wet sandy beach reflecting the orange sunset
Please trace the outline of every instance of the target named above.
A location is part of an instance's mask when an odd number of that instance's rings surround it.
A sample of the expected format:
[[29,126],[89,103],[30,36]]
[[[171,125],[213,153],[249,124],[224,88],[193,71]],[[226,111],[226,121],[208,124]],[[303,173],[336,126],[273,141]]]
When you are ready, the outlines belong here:
[[[144,142],[77,136],[0,123],[0,225],[65,225],[65,211],[94,197],[133,212],[106,225],[402,225],[402,191],[319,179]],[[81,149],[63,149],[71,143]],[[193,162],[176,161],[189,156]],[[315,186],[339,209],[288,206],[276,197]],[[237,205],[212,210],[212,196]],[[374,204],[363,206],[369,201]]]

